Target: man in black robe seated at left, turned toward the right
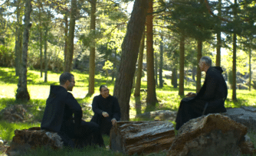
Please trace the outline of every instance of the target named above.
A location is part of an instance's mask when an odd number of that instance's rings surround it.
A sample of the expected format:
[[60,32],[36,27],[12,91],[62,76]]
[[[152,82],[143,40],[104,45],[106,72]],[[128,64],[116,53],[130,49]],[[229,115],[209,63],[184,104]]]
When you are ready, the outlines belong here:
[[64,146],[75,148],[74,139],[77,141],[77,147],[80,148],[85,145],[104,147],[99,125],[94,122],[84,122],[81,119],[83,112],[79,103],[71,93],[67,92],[72,91],[75,85],[74,75],[62,73],[60,84],[50,88],[41,129],[57,132],[64,141]]

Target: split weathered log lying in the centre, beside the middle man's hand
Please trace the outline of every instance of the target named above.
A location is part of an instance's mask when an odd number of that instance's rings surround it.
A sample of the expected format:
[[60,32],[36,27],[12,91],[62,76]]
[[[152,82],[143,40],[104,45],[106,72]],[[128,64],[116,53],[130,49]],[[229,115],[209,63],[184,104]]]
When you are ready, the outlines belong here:
[[171,122],[117,122],[110,130],[110,149],[123,154],[168,150],[175,137]]

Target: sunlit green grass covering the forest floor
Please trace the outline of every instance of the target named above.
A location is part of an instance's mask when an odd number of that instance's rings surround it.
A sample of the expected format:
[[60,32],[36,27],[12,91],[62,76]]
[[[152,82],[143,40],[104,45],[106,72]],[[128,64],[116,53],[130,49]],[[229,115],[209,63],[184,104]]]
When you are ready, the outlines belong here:
[[[80,103],[83,108],[84,117],[83,119],[87,122],[90,121],[91,116],[94,112],[91,110],[91,102],[94,96],[100,94],[99,88],[101,84],[106,84],[110,89],[110,94],[113,94],[114,81],[111,81],[111,77],[106,77],[100,74],[95,76],[95,93],[93,96],[87,97],[88,91],[88,73],[81,73],[79,71],[71,72],[74,74],[76,86],[72,91],[74,97]],[[40,76],[39,70],[28,70],[28,92],[31,100],[27,103],[15,101],[15,92],[18,84],[18,76],[15,76],[14,68],[0,67],[0,112],[6,107],[22,104],[28,106],[27,114],[30,114],[32,118],[26,118],[24,122],[6,122],[0,120],[0,138],[4,140],[8,145],[11,138],[14,136],[15,129],[25,129],[30,127],[39,127],[44,113],[44,107],[46,99],[48,98],[50,85],[58,85],[59,76],[61,73],[48,72],[48,82],[44,83],[44,77]],[[43,74],[44,76],[44,74]],[[164,75],[163,75],[164,76]],[[145,77],[143,78],[145,80]],[[146,81],[141,83],[141,89],[146,89]],[[133,96],[130,98],[130,120],[137,121],[135,119],[136,114],[143,112],[155,111],[155,110],[172,110],[177,111],[179,109],[179,102],[183,98],[179,96],[179,89],[173,88],[171,80],[165,80],[165,85],[162,89],[156,87],[156,96],[159,102],[154,107],[146,107],[146,92],[141,92],[141,96],[135,99]],[[202,79],[203,82],[203,79]],[[189,92],[195,92],[195,82],[185,81],[185,94]],[[256,90],[252,89],[251,92],[248,90],[237,90],[238,102],[231,100],[231,89],[228,89],[228,99],[225,102],[225,107],[241,107],[241,106],[256,106]],[[138,103],[140,105],[138,106]],[[1,114],[0,114],[1,119]],[[170,121],[175,125],[174,121]],[[254,135],[255,136],[255,135]],[[107,135],[103,136],[105,145],[110,144],[110,138]],[[254,147],[256,147],[256,138],[254,138]],[[49,153],[51,152],[51,153]],[[1,151],[0,151],[1,154]],[[3,152],[2,152],[3,155]],[[31,151],[31,154],[26,155],[124,155],[119,152],[109,151],[107,148],[85,148],[84,150],[60,150],[60,151],[45,151],[44,149],[38,149]],[[159,154],[149,155],[166,155],[162,152]]]

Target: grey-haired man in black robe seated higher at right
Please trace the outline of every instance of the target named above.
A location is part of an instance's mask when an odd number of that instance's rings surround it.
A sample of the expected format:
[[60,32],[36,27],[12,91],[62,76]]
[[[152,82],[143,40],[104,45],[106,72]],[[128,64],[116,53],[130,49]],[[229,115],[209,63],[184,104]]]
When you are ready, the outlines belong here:
[[176,130],[185,122],[201,115],[226,112],[224,102],[228,96],[228,88],[222,76],[222,67],[212,67],[210,57],[202,57],[199,67],[206,73],[205,83],[199,93],[188,93],[180,102],[176,116]]

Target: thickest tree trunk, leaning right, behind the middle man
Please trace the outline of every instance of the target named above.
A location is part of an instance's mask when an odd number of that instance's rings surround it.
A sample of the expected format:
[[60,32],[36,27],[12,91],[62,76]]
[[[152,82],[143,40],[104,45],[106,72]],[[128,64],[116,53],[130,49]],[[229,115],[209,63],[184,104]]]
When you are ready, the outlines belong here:
[[139,53],[139,44],[144,31],[146,21],[148,0],[135,0],[130,21],[127,25],[126,36],[122,44],[122,56],[120,68],[113,96],[117,96],[120,103],[121,119],[129,121],[130,95],[133,86],[133,76],[136,70],[136,60]]

